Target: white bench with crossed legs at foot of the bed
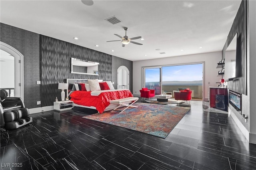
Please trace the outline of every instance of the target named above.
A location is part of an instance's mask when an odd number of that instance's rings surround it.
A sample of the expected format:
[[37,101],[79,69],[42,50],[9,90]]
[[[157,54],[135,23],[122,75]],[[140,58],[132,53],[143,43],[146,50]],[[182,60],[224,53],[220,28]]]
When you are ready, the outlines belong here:
[[[138,107],[138,106],[132,106],[135,102],[137,102],[137,100],[139,100],[139,98],[137,97],[129,97],[129,98],[123,98],[123,99],[116,99],[116,100],[110,100],[111,104],[116,104],[118,105],[116,108],[114,108],[113,110],[116,110],[118,107],[121,106],[126,106],[120,113],[122,113],[124,110],[126,110],[128,107]],[[131,104],[129,104],[130,102],[132,102]]]

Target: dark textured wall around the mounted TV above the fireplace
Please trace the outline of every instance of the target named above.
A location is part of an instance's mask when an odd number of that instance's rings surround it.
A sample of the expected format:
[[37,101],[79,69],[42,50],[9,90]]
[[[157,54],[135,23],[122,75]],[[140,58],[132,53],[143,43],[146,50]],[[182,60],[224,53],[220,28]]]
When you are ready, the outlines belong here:
[[224,48],[222,50],[222,59],[225,59],[225,51],[232,41],[234,35],[237,33],[237,48],[236,48],[236,55],[240,56],[241,61],[236,61],[237,64],[242,65],[241,70],[236,70],[239,73],[239,77],[236,78],[234,81],[228,81],[227,87],[230,90],[234,90],[235,92],[239,92],[242,94],[246,94],[246,55],[245,55],[245,37],[246,37],[246,31],[245,31],[245,1],[242,1],[239,10],[236,14],[236,18],[234,19],[233,25],[230,29],[230,32],[228,34],[228,38],[226,41],[226,44],[224,45]]

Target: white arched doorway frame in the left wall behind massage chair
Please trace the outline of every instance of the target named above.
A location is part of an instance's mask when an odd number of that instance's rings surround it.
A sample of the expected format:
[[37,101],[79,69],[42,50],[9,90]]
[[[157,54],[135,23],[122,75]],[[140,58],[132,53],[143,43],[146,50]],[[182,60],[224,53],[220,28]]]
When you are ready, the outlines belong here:
[[[0,50],[9,53],[14,57],[14,96],[24,98],[24,81],[23,81],[23,55],[14,47],[0,41]],[[1,74],[7,74],[6,72]],[[1,81],[1,80],[0,80]],[[1,88],[1,87],[0,87]]]

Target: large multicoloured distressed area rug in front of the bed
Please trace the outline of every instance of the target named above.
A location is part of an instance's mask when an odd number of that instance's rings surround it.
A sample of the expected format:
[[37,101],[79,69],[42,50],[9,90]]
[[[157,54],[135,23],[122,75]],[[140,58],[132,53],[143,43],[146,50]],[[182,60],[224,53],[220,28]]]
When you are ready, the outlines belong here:
[[169,106],[148,103],[135,103],[137,108],[119,111],[105,111],[102,114],[84,116],[91,119],[166,138],[182,117],[190,110],[189,107]]

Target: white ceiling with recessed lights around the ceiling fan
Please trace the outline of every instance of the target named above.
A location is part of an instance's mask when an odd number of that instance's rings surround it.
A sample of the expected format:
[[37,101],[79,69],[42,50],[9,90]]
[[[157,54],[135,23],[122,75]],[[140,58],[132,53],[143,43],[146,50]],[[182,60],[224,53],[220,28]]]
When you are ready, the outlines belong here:
[[[81,0],[0,0],[0,22],[138,61],[222,51],[240,3],[94,0],[92,6],[86,6]],[[105,20],[112,16],[121,22],[113,25]],[[144,40],[133,41],[143,45],[122,47],[120,41],[106,42],[120,40],[114,33],[123,37],[123,27],[128,27],[129,38],[142,36]]]

